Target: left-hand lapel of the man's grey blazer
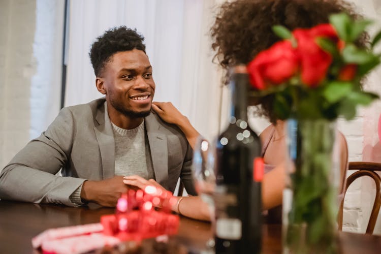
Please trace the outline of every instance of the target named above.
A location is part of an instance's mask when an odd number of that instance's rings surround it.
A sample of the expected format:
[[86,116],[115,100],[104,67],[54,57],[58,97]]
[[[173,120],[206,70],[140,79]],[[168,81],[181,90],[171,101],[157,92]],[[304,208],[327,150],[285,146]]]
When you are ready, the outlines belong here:
[[98,109],[96,120],[99,125],[94,127],[94,131],[101,152],[103,179],[107,179],[115,175],[115,141],[106,102]]

